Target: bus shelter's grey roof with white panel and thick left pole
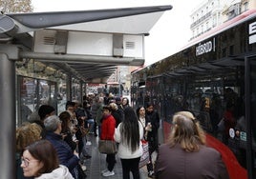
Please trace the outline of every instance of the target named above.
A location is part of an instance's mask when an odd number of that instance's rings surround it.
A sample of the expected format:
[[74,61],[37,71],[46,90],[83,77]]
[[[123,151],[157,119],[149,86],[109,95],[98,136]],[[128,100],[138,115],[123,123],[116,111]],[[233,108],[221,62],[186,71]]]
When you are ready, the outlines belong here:
[[71,78],[105,83],[117,65],[142,66],[144,37],[161,14],[171,9],[0,14],[1,178],[15,178],[15,119],[21,104],[16,62],[32,59],[67,74],[67,99],[71,99]]

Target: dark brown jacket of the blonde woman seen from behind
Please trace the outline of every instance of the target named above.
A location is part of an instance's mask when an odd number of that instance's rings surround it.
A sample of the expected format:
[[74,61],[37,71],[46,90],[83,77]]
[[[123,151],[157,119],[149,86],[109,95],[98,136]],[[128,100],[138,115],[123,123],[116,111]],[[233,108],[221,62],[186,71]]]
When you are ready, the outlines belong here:
[[161,145],[155,166],[158,179],[228,179],[221,154],[202,146],[198,152],[187,152],[180,145]]

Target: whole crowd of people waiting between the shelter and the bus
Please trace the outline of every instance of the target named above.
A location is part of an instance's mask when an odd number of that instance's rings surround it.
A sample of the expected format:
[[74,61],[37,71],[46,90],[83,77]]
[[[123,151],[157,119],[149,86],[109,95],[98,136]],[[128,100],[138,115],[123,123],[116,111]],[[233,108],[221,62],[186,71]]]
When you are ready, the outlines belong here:
[[68,101],[58,116],[53,107],[42,105],[16,129],[17,178],[86,178],[85,161],[91,158],[86,149],[88,134],[117,143],[117,153],[106,154],[104,177],[115,175],[118,157],[122,178],[129,179],[131,172],[139,179],[144,140],[150,178],[228,178],[221,154],[205,147],[203,129],[193,114],[178,112],[173,123],[168,142],[160,145],[160,116],[151,103],[133,109],[128,98],[96,96],[82,105]]

